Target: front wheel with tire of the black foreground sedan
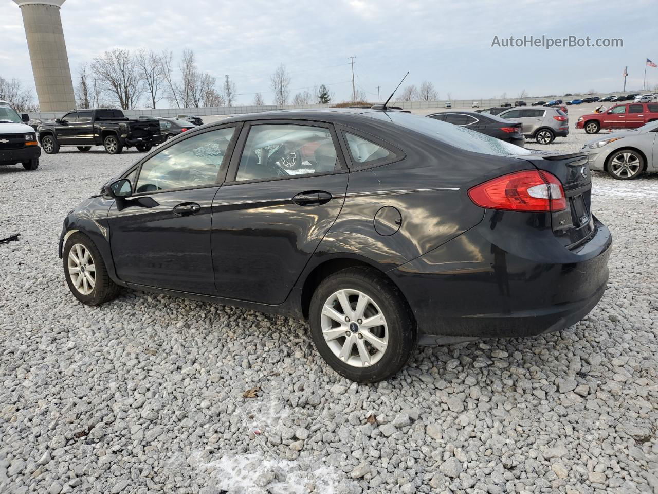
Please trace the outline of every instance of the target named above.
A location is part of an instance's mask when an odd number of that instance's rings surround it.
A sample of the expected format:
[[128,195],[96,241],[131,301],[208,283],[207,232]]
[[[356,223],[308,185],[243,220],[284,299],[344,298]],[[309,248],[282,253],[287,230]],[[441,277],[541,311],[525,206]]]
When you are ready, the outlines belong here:
[[[74,251],[73,257],[70,256],[72,250]],[[88,258],[86,258],[85,252],[89,254]],[[79,254],[82,254],[83,259],[86,259],[86,262],[82,264],[82,267],[84,267],[82,272],[88,276],[82,275],[82,281],[78,282],[78,273],[72,273],[71,271],[75,269],[79,271],[80,269],[81,263],[77,263],[74,259],[78,258]],[[116,298],[118,295],[120,287],[109,277],[101,253],[86,234],[76,232],[66,239],[63,261],[64,277],[68,289],[83,304],[97,306]],[[90,266],[93,266],[93,271],[89,269]],[[76,287],[76,283],[79,283],[80,287]]]

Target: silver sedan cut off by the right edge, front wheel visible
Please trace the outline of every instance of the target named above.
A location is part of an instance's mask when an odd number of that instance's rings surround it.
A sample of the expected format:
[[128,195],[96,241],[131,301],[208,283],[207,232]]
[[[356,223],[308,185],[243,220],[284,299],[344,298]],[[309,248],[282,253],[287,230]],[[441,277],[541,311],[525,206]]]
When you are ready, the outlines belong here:
[[605,171],[618,180],[640,173],[658,173],[658,121],[639,128],[599,136],[583,146],[590,151],[590,169]]

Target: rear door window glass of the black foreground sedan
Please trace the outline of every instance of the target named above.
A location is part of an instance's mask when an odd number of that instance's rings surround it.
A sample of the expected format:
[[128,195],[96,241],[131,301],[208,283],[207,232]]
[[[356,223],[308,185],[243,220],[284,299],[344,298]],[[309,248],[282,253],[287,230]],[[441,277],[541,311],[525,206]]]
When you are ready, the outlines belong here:
[[293,124],[254,125],[236,181],[308,175],[340,170],[331,132]]

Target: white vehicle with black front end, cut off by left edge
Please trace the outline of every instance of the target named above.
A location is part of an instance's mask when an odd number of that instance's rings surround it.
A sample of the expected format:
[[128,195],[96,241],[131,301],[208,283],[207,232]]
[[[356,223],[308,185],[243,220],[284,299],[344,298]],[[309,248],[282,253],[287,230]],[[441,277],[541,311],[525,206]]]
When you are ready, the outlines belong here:
[[41,148],[34,128],[24,123],[28,115],[21,116],[7,103],[0,101],[0,165],[23,165],[26,170],[39,167]]

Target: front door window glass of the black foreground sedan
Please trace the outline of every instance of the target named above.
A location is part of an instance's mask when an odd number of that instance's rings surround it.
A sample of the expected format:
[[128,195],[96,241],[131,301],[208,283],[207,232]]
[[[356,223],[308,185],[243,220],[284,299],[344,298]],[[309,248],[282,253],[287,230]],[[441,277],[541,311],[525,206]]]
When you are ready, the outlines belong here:
[[214,184],[234,130],[211,130],[157,153],[141,165],[135,192]]

